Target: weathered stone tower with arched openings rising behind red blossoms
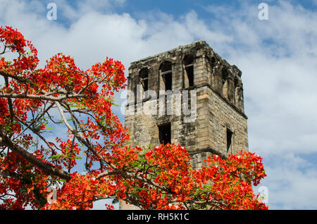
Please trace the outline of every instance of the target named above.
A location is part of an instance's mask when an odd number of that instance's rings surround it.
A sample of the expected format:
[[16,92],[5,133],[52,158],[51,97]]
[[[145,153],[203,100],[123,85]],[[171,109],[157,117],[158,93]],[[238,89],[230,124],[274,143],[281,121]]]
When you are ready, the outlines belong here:
[[241,75],[202,40],[132,62],[125,107],[129,144],[180,143],[193,168],[211,154],[248,151]]

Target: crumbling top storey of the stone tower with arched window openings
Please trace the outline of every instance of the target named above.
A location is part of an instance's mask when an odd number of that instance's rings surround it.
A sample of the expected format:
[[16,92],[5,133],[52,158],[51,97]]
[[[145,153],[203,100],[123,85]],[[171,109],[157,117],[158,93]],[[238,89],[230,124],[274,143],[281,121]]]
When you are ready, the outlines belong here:
[[[197,74],[195,70],[203,67],[203,73]],[[175,75],[170,75],[171,80],[166,80],[167,73],[164,71],[168,72],[168,68],[174,73],[182,70],[182,82],[174,80]],[[137,73],[135,73],[136,70]],[[136,86],[137,83],[142,82],[144,75],[141,73],[146,74],[145,77],[148,79],[147,89],[153,89],[158,94],[160,90],[166,89],[166,83],[171,85],[170,90],[172,91],[209,85],[230,106],[244,115],[241,70],[221,58],[204,40],[178,46],[161,54],[132,62],[128,77],[130,86]],[[161,73],[161,77],[159,73]]]

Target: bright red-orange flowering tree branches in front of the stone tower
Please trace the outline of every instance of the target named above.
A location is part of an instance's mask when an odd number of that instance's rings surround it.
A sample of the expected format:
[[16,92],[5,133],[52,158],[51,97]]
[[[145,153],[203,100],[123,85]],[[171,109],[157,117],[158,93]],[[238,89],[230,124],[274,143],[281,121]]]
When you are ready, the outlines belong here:
[[[1,27],[0,42],[1,209],[91,209],[100,199],[142,209],[268,209],[251,188],[266,176],[260,156],[215,155],[194,170],[180,145],[125,146],[128,130],[111,110],[126,86],[119,61],[81,70],[59,53],[37,68],[37,49],[20,32]],[[50,131],[63,127],[67,136]]]

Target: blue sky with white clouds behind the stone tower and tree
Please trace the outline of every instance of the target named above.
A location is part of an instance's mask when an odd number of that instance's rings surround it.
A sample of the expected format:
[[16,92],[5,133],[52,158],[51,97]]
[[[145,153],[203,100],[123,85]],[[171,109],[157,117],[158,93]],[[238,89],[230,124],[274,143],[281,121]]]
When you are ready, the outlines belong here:
[[269,209],[317,209],[317,0],[0,0],[0,25],[32,41],[40,67],[58,52],[82,69],[108,56],[126,75],[132,61],[204,39],[242,70],[249,151],[263,157]]

